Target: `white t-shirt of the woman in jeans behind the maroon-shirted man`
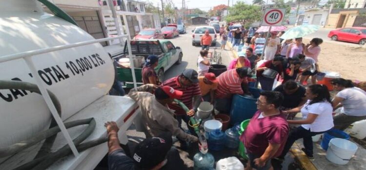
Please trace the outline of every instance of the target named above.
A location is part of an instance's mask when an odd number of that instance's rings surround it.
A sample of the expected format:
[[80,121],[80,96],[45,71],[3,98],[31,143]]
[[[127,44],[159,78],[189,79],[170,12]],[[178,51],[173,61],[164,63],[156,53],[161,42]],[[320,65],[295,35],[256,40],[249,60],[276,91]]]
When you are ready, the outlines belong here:
[[311,101],[307,100],[303,108],[301,108],[301,113],[303,114],[303,119],[307,118],[309,113],[317,114],[318,117],[311,124],[301,125],[306,130],[311,132],[324,132],[331,129],[333,124],[333,107],[329,102],[317,102],[310,104]]

